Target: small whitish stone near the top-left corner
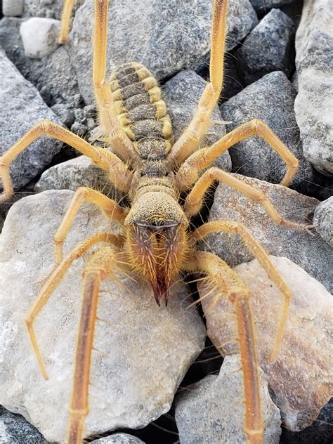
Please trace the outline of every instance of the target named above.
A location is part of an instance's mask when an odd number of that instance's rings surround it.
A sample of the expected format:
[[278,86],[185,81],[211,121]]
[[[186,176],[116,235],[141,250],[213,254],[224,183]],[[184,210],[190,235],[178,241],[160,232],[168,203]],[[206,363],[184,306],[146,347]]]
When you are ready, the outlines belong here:
[[60,21],[53,18],[32,17],[20,26],[25,55],[43,58],[58,48]]

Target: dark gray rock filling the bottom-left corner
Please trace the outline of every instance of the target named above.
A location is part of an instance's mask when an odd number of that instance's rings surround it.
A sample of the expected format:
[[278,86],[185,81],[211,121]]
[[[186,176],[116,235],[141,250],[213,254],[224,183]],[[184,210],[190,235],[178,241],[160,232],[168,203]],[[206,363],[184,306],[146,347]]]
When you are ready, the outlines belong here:
[[7,412],[0,416],[0,443],[48,444],[48,441],[20,414]]

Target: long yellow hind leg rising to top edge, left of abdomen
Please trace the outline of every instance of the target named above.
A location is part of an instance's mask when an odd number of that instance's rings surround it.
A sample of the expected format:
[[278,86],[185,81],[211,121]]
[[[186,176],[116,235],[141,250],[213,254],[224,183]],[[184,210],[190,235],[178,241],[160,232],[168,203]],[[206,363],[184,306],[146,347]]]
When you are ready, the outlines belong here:
[[95,24],[93,30],[93,86],[99,110],[100,122],[110,138],[112,148],[123,159],[137,158],[133,143],[122,129],[115,102],[112,98],[110,81],[106,77],[107,11],[108,0],[95,0]]

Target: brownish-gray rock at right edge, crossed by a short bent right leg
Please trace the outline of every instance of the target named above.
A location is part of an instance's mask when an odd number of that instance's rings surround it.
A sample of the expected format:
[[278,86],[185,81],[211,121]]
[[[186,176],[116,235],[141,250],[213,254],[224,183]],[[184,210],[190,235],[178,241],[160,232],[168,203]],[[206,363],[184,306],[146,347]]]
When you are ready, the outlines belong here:
[[[282,217],[298,223],[311,223],[318,200],[294,190],[233,174],[244,183],[266,193]],[[322,282],[330,291],[333,287],[332,270],[327,263],[331,249],[318,234],[289,230],[275,225],[266,211],[240,192],[220,184],[215,192],[209,220],[225,219],[242,223],[258,240],[268,254],[286,256]],[[237,235],[216,233],[207,238],[207,245],[231,266],[252,259],[247,247]]]

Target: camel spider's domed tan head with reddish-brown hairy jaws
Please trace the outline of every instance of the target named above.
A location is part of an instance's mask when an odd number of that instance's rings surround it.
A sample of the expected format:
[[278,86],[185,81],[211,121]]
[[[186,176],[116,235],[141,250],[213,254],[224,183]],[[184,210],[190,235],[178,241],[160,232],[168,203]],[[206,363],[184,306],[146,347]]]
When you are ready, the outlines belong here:
[[152,285],[158,305],[188,252],[188,221],[180,205],[164,192],[146,192],[134,202],[125,220],[133,270]]

